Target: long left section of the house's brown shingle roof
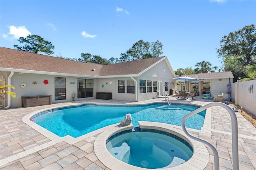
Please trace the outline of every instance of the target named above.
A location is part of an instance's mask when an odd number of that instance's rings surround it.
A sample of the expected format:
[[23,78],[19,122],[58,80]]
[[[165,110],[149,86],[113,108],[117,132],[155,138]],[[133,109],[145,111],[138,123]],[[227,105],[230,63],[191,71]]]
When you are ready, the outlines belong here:
[[[102,65],[82,63],[48,55],[30,53],[9,48],[0,48],[0,67],[68,73],[76,75],[99,75]],[[95,71],[91,71],[95,69]]]

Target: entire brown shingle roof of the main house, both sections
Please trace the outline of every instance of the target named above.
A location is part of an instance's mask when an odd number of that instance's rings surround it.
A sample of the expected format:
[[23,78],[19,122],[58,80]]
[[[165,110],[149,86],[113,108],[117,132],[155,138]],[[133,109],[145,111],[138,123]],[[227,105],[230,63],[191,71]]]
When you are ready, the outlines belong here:
[[[87,76],[138,75],[166,57],[100,65],[0,47],[0,68]],[[95,71],[92,71],[95,69]],[[20,71],[22,72],[22,71]]]

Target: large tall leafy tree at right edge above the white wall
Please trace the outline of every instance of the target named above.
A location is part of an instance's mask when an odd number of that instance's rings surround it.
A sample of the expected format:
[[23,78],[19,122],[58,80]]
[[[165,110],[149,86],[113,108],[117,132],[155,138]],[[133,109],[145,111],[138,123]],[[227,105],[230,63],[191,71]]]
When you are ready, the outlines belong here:
[[241,30],[230,32],[223,36],[220,48],[217,48],[218,57],[223,63],[224,71],[232,71],[233,81],[238,77],[246,78],[243,68],[245,65],[256,65],[256,28],[254,24],[245,26]]

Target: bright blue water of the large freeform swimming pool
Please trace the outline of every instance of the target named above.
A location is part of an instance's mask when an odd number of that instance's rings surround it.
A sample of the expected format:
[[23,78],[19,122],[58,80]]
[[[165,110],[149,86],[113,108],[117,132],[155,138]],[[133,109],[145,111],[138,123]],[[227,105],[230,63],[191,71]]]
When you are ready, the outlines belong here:
[[[33,116],[34,123],[63,137],[78,137],[102,127],[119,123],[126,113],[131,113],[132,124],[138,127],[137,121],[152,121],[181,126],[182,118],[196,110],[187,105],[149,105],[144,107],[111,107],[83,105],[70,109],[54,109],[40,116]],[[206,111],[193,115],[185,122],[186,127],[200,129],[204,123]]]

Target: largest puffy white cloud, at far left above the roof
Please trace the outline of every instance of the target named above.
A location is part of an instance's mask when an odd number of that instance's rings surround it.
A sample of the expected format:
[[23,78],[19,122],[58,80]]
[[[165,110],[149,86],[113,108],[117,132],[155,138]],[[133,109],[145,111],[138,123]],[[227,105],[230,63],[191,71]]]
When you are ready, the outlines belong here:
[[3,38],[8,39],[9,35],[11,35],[12,37],[10,40],[12,40],[19,39],[20,37],[26,37],[29,34],[31,35],[31,32],[29,32],[25,26],[10,26],[9,31],[10,32],[8,32],[8,34],[3,34]]

